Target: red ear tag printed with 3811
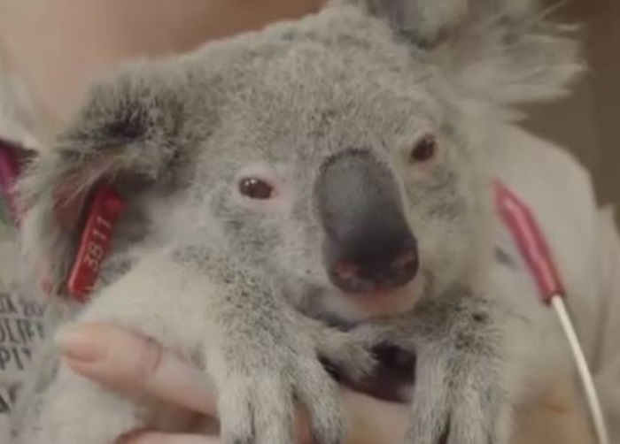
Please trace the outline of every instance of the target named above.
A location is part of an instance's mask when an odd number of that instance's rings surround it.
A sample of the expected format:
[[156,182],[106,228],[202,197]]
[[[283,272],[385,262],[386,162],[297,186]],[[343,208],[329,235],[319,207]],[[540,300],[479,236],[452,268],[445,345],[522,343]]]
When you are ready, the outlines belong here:
[[101,264],[110,250],[114,226],[124,207],[122,197],[110,185],[99,188],[90,203],[80,246],[66,283],[68,294],[77,301],[84,302],[95,286]]

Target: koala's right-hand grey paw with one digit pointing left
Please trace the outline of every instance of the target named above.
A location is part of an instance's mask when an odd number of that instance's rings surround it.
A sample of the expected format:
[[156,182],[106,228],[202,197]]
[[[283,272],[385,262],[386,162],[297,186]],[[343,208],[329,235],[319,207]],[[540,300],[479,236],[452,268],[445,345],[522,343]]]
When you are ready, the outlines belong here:
[[359,327],[416,356],[407,444],[508,444],[514,400],[499,317],[494,302],[461,289]]

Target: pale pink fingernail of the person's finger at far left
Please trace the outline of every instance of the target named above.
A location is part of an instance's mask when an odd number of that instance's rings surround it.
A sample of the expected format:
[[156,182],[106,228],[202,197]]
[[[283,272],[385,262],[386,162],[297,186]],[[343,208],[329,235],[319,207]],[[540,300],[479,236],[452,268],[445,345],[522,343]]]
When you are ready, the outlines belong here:
[[55,339],[63,356],[74,362],[93,363],[107,355],[106,338],[93,327],[68,327],[61,330]]

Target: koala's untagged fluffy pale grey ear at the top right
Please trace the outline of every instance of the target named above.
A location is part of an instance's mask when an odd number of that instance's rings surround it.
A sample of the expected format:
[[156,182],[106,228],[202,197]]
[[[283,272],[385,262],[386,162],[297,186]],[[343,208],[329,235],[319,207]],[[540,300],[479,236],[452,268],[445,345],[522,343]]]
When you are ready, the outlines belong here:
[[581,73],[574,27],[536,0],[350,0],[389,19],[471,99],[510,107],[567,92]]

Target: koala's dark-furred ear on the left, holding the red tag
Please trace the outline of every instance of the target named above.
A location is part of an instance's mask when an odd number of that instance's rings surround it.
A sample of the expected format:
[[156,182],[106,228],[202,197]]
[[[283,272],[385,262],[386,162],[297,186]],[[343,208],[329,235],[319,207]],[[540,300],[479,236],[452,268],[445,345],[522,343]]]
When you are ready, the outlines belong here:
[[140,68],[98,84],[55,146],[27,165],[17,195],[30,280],[44,277],[52,293],[63,291],[84,209],[99,185],[131,194],[174,179],[188,102],[176,75]]

